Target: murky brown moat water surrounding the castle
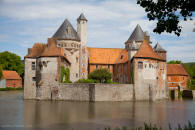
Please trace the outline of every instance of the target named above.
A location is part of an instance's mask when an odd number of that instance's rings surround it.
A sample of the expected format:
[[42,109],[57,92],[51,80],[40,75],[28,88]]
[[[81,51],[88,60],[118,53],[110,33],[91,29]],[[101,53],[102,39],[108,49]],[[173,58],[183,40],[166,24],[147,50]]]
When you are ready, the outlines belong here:
[[0,91],[0,129],[104,130],[106,127],[168,128],[195,123],[195,100],[68,102],[23,100],[23,91]]

